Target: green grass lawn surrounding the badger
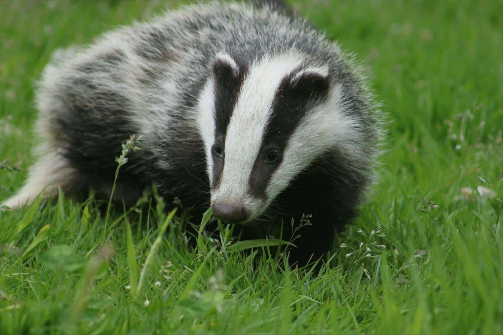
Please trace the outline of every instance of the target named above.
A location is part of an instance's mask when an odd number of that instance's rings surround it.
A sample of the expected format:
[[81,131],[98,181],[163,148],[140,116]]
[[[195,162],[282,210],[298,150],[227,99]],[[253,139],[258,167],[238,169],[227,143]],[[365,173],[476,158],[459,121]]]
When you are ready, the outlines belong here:
[[[181,210],[105,222],[60,195],[0,212],[0,333],[503,332],[503,3],[291,5],[359,55],[391,120],[332,267],[284,271],[267,250],[229,250],[224,228],[191,249]],[[22,168],[0,169],[0,199],[32,163],[32,84],[52,51],[163,6],[0,2],[0,161]]]

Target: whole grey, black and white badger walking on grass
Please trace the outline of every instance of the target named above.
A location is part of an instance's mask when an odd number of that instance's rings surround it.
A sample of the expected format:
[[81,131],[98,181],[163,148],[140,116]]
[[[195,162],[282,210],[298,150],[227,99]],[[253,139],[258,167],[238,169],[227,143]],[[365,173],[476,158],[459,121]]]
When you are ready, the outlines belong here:
[[[354,57],[275,3],[198,3],[58,51],[36,86],[36,162],[4,204],[94,189],[141,136],[113,201],[148,185],[243,229],[299,224],[319,259],[375,180],[380,105]],[[287,234],[287,229],[283,232]]]

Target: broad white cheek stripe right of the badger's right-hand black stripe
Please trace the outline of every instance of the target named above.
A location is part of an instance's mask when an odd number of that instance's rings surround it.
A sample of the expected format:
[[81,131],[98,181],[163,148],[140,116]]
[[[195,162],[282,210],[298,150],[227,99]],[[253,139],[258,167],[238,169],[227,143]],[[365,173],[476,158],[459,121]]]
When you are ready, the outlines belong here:
[[[289,182],[314,158],[328,148],[344,143],[345,154],[358,154],[360,126],[358,118],[344,115],[341,104],[342,86],[333,87],[324,103],[311,109],[290,137],[283,161],[271,176],[266,194],[269,201],[283,191]],[[354,145],[352,145],[354,144]]]

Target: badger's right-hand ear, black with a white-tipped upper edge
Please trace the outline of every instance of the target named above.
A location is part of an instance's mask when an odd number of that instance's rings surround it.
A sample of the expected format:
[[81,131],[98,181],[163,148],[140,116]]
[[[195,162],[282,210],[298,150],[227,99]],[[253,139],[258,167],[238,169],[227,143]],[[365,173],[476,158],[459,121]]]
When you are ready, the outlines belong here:
[[294,73],[290,79],[293,90],[304,98],[324,98],[330,88],[328,67],[308,67]]

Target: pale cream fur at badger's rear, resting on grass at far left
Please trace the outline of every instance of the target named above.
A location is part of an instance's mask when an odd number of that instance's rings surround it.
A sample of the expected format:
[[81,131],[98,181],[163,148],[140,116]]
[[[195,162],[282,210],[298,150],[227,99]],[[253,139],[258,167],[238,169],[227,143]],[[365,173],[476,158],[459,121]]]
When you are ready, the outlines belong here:
[[3,205],[16,209],[31,204],[38,195],[43,199],[55,196],[58,187],[62,190],[71,188],[76,175],[75,169],[59,153],[44,155],[30,167],[26,184]]

